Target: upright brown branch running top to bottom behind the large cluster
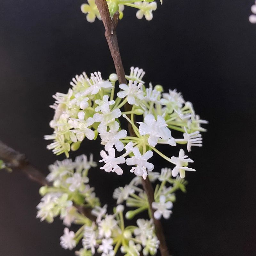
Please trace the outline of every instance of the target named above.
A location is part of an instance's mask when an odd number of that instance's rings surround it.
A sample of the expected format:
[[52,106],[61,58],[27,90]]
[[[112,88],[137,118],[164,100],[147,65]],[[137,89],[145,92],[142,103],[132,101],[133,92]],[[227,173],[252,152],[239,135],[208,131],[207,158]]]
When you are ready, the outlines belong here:
[[[113,16],[113,19],[111,19],[109,11],[108,11],[108,5],[105,0],[95,0],[95,3],[98,7],[98,10],[100,12],[100,16],[102,18],[104,27],[105,27],[105,37],[108,42],[108,47],[112,56],[112,59],[115,64],[116,68],[116,74],[118,76],[118,81],[120,84],[126,84],[126,79],[125,79],[125,73],[124,73],[124,67],[121,59],[121,54],[119,52],[119,47],[118,47],[118,42],[117,42],[117,36],[116,36],[116,25],[117,21],[119,18],[119,12],[116,12]],[[130,111],[131,110],[131,105],[125,104],[124,105],[125,111]],[[129,133],[131,136],[136,136],[134,134],[134,131],[132,129],[132,126],[129,124],[128,125]],[[154,209],[152,209],[152,202],[154,201],[154,191],[151,182],[148,179],[148,176],[146,180],[141,178],[142,180],[142,185],[143,188],[148,196],[148,202],[150,205],[150,211],[152,213],[152,218],[154,221],[155,229],[156,229],[156,235],[157,238],[160,242],[159,244],[159,249],[161,252],[162,256],[169,256],[168,248],[166,245],[165,237],[164,237],[164,232],[163,232],[163,227],[161,224],[160,220],[156,220],[154,218]]]

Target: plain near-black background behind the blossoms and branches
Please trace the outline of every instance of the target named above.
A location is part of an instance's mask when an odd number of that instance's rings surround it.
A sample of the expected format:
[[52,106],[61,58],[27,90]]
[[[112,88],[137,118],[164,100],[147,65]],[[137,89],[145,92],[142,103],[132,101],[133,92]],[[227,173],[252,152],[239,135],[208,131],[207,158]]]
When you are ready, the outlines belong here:
[[[51,97],[67,92],[76,74],[114,66],[100,21],[86,21],[83,0],[0,1],[0,139],[25,153],[47,174],[56,158],[43,135],[53,116]],[[174,256],[255,255],[255,82],[256,25],[252,0],[164,0],[148,22],[126,7],[118,24],[124,68],[139,66],[145,80],[183,92],[196,113],[209,120],[204,147],[189,156],[187,194],[178,193],[164,229]],[[85,140],[79,152],[94,152],[99,141]],[[172,149],[176,154],[178,148]],[[154,158],[155,170],[169,166]],[[99,169],[90,184],[102,203],[123,186],[122,177]],[[1,172],[0,255],[64,256],[63,226],[36,219],[39,186],[19,172]],[[114,204],[114,200],[110,203]]]

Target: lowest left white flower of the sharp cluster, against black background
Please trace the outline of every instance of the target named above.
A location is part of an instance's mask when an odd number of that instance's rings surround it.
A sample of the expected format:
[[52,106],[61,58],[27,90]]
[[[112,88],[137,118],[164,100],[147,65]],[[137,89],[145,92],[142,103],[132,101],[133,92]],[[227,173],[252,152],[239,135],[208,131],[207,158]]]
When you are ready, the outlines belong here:
[[100,167],[101,170],[105,170],[105,172],[116,172],[116,174],[121,175],[123,170],[118,164],[124,164],[125,159],[123,156],[118,156],[115,158],[116,151],[114,148],[110,148],[108,151],[108,155],[104,150],[100,151],[100,156],[103,158],[99,162],[104,162],[105,165]]

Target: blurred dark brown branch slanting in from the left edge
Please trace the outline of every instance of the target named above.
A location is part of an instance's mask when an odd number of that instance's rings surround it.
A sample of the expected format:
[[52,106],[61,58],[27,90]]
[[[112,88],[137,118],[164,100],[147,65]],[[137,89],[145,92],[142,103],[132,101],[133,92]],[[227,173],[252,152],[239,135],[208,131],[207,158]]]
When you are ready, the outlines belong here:
[[[51,183],[45,179],[45,176],[35,166],[28,162],[28,159],[24,154],[14,150],[7,146],[0,140],[0,159],[4,161],[7,167],[11,169],[18,169],[24,172],[30,180],[33,180],[41,186],[51,186]],[[75,205],[77,210],[84,214],[85,217],[92,221],[96,221],[96,217],[92,215],[90,209]]]

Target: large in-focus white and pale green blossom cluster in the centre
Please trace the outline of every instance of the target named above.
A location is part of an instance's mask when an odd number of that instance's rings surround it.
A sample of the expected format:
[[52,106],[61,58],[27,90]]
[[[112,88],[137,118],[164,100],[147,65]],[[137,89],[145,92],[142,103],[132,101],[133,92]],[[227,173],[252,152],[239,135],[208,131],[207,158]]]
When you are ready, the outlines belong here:
[[[115,96],[116,74],[109,80],[103,80],[100,72],[94,72],[90,78],[83,73],[73,78],[68,93],[56,93],[53,97],[55,115],[50,122],[54,129],[52,135],[45,136],[53,140],[47,146],[59,155],[79,148],[81,141],[96,139],[98,134],[104,150],[100,155],[106,172],[123,173],[121,164],[131,166],[130,172],[146,179],[154,165],[150,163],[153,152],[175,165],[172,176],[185,177],[185,171],[195,171],[188,167],[193,161],[180,149],[178,156],[166,156],[156,147],[166,144],[174,147],[187,144],[190,152],[193,146],[202,146],[200,132],[206,131],[201,120],[195,114],[191,102],[186,102],[181,93],[175,90],[163,92],[161,85],[145,86],[142,80],[145,72],[141,68],[131,67],[126,76],[127,84],[119,84],[121,89]],[[130,111],[122,110],[131,105]],[[143,115],[143,119],[141,116]],[[135,121],[135,116],[141,122]],[[127,136],[127,126],[121,128],[120,119],[127,120],[133,129],[133,135]],[[182,132],[182,138],[173,138],[172,130]],[[79,174],[76,174],[78,178]],[[59,177],[61,178],[61,177]],[[58,182],[58,180],[56,181]],[[71,182],[71,181],[70,181]],[[71,188],[73,186],[70,186]]]

